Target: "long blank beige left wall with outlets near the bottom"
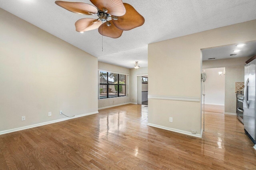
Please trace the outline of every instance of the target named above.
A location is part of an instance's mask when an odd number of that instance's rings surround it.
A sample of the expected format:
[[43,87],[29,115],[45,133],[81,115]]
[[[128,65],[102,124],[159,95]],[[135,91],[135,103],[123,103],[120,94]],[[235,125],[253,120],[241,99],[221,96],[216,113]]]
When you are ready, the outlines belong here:
[[96,57],[1,8],[0,16],[0,131],[62,119],[60,110],[98,111]]

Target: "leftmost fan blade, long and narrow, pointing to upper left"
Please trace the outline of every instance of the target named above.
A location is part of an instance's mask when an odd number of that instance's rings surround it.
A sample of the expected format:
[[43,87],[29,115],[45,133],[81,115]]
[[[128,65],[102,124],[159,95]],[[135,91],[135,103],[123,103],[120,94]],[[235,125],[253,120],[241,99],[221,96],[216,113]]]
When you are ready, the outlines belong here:
[[98,13],[96,7],[82,2],[65,2],[57,0],[55,1],[55,4],[76,14],[93,15]]

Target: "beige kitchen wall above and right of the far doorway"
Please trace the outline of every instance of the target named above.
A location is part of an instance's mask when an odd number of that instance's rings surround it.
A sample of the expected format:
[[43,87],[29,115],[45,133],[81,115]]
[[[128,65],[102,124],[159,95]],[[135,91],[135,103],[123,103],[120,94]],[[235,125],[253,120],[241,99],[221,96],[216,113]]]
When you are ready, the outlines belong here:
[[225,67],[225,112],[236,113],[236,82],[244,82],[244,65],[250,57],[203,61],[202,69]]

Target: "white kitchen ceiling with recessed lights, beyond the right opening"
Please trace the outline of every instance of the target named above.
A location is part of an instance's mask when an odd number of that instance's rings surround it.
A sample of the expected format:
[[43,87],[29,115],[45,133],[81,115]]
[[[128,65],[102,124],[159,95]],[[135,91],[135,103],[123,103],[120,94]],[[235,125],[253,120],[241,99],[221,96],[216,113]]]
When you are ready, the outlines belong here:
[[[207,61],[220,60],[220,59],[232,59],[238,57],[251,57],[256,55],[256,41],[246,42],[243,47],[237,47],[238,44],[225,45],[221,47],[214,47],[208,49],[202,49],[202,59]],[[240,49],[239,52],[234,52],[234,50]],[[230,54],[236,54],[235,56],[230,56]]]

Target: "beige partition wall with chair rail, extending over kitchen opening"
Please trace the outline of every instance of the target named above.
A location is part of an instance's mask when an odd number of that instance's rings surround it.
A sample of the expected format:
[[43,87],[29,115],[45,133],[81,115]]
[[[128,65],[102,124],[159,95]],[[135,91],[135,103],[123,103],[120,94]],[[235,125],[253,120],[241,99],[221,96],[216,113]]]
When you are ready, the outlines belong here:
[[190,135],[196,130],[200,136],[201,49],[254,41],[255,28],[253,20],[149,44],[148,76],[155,83],[148,84],[148,92],[155,98],[148,100],[148,123]]

